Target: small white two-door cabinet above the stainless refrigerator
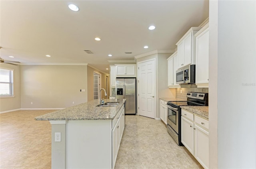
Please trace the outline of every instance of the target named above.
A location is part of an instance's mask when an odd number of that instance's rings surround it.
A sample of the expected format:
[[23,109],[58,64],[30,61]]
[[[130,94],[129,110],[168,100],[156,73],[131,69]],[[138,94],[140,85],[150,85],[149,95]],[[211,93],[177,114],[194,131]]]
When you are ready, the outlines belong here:
[[130,76],[135,77],[136,65],[116,65],[116,76]]

